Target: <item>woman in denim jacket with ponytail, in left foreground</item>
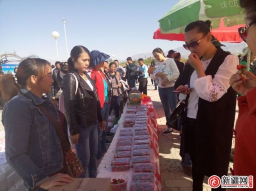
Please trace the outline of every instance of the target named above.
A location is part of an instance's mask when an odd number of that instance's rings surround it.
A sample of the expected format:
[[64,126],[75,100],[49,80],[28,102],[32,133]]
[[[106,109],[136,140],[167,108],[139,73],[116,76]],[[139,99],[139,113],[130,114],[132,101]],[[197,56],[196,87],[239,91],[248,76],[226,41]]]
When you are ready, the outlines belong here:
[[[48,190],[65,185],[72,178],[64,172],[61,142],[55,128],[38,105],[60,121],[57,110],[43,93],[51,90],[51,65],[40,58],[21,61],[16,73],[1,80],[3,96],[8,100],[2,113],[6,134],[6,158],[25,185],[33,190]],[[7,88],[8,87],[8,88]],[[19,87],[20,89],[19,92]],[[18,96],[16,96],[19,93]]]

